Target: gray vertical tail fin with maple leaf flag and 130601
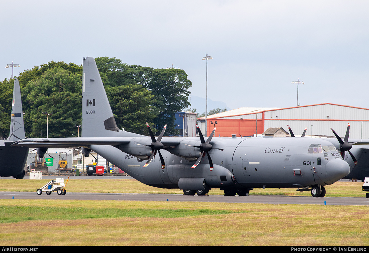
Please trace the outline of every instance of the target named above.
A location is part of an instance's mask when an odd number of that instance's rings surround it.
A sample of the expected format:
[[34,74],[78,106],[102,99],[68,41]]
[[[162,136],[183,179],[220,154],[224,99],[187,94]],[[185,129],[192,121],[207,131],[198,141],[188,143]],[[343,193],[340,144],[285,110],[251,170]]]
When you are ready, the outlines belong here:
[[95,59],[83,58],[82,137],[136,136],[119,130]]

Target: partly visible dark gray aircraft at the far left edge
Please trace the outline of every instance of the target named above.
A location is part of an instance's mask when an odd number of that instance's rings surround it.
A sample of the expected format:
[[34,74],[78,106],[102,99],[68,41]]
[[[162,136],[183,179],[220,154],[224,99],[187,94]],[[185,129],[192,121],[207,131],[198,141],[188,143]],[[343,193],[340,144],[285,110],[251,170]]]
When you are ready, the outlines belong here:
[[24,165],[27,161],[28,147],[10,146],[25,138],[21,89],[18,79],[14,79],[13,101],[9,137],[0,141],[0,177],[24,177]]

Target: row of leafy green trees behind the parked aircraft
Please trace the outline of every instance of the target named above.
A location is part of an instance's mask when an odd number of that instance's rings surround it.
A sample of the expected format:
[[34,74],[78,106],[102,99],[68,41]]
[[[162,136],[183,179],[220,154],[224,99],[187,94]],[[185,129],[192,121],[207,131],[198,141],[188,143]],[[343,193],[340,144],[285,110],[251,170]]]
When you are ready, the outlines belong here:
[[[117,126],[147,135],[145,122],[166,135],[176,134],[175,112],[190,104],[192,83],[182,69],[154,69],[127,65],[120,59],[96,58],[101,80]],[[19,73],[24,126],[27,138],[73,137],[81,124],[82,65],[50,61]],[[0,82],[0,138],[9,135],[13,79]]]

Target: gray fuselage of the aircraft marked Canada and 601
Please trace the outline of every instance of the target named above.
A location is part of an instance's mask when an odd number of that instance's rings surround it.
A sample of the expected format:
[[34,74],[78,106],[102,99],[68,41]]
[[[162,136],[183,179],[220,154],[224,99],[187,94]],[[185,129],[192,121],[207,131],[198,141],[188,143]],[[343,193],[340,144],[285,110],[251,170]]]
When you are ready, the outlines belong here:
[[[163,143],[166,143],[165,139]],[[173,138],[168,139],[171,142]],[[181,142],[196,141],[199,139],[184,138]],[[90,145],[89,148],[142,183],[161,188],[178,188],[180,179],[189,178],[205,179],[206,184],[214,188],[299,188],[332,184],[349,173],[349,166],[339,152],[325,152],[323,146],[332,147],[332,144],[321,139],[214,137],[211,144],[214,148],[224,149],[210,151],[213,170],[209,169],[207,157],[203,157],[199,166],[192,168],[193,159],[172,154],[176,153],[176,148],[169,150],[172,153],[162,151],[166,164],[164,169],[161,169],[159,159],[144,168],[144,162],[118,148],[103,145]],[[308,153],[311,144],[320,144],[321,152]],[[199,153],[196,148],[187,147],[180,152],[194,156]]]

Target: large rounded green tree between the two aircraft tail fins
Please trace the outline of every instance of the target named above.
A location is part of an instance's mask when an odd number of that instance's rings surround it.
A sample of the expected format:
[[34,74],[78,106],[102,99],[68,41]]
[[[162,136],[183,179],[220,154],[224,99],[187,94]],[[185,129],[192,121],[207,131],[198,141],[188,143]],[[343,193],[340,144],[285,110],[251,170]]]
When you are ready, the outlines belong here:
[[72,137],[77,135],[76,125],[81,124],[82,81],[81,73],[71,73],[62,67],[46,70],[24,87],[23,104],[25,130],[31,138],[45,137],[47,115],[49,137]]

